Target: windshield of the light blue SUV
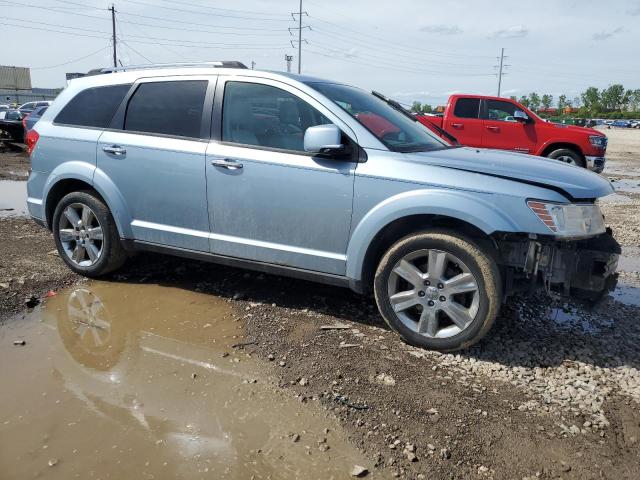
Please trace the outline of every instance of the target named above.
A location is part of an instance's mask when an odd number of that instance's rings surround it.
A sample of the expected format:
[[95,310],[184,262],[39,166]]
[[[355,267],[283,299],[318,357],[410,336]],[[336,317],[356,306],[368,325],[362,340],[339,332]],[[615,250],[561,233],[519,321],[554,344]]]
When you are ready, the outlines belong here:
[[333,100],[389,150],[423,152],[449,146],[419,122],[364,90],[333,83],[309,83],[309,86]]

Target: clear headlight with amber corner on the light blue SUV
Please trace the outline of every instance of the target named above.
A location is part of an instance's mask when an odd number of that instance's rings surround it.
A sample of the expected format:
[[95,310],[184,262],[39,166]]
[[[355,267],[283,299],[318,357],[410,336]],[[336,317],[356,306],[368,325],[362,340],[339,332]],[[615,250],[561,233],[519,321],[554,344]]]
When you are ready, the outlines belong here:
[[584,237],[605,231],[600,207],[594,204],[550,203],[528,200],[527,205],[559,237]]

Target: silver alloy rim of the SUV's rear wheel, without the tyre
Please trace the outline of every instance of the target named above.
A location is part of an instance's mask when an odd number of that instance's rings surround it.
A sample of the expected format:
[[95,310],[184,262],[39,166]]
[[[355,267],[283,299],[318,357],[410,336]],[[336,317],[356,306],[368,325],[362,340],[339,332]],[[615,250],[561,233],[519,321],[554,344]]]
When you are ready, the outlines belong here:
[[90,267],[102,256],[102,226],[93,210],[83,203],[72,203],[62,211],[58,235],[64,253],[80,267]]

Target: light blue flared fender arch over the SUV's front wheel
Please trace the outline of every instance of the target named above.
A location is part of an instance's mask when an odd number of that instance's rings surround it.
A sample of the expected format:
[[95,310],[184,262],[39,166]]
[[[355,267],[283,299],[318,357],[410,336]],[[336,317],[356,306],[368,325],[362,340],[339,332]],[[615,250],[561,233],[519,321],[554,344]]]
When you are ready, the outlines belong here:
[[395,220],[411,215],[442,215],[470,223],[487,235],[520,231],[520,226],[507,212],[491,203],[492,195],[445,190],[403,192],[372,208],[353,230],[347,247],[347,277],[359,281],[365,255],[374,237]]

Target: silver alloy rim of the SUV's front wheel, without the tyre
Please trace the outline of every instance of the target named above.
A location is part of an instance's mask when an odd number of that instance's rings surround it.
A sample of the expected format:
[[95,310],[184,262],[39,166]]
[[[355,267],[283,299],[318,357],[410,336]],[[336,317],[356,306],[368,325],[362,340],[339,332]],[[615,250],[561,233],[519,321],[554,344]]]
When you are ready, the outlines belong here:
[[400,321],[428,338],[461,333],[473,323],[479,309],[475,276],[458,257],[443,250],[405,255],[393,267],[387,291]]

